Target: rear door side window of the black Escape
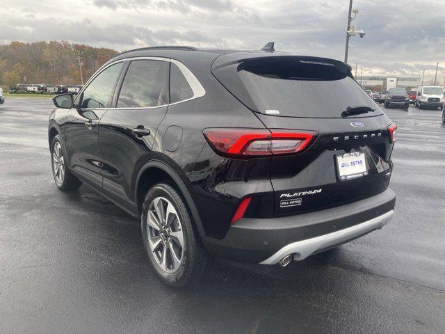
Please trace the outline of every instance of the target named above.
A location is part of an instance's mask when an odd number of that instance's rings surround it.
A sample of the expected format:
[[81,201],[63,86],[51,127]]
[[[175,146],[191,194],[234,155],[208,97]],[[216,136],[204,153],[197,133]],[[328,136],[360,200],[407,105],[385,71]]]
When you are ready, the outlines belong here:
[[131,61],[120,89],[118,108],[168,104],[167,61]]

